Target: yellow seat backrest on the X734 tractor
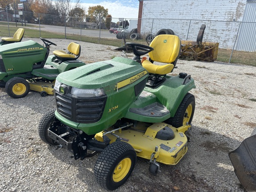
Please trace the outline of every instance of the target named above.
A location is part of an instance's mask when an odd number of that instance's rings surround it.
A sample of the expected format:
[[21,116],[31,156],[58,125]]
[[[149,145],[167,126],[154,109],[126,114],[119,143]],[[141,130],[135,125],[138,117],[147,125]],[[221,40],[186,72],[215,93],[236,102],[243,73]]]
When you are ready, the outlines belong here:
[[170,64],[180,56],[180,38],[175,35],[158,35],[149,46],[154,48],[152,52],[148,53],[153,61]]

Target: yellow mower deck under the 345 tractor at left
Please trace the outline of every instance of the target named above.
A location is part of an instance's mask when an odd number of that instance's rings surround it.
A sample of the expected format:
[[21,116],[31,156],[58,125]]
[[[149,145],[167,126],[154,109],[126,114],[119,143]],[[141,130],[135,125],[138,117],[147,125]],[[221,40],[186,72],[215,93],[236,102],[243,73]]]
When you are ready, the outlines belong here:
[[50,82],[29,82],[30,89],[37,92],[46,92],[48,95],[54,95],[55,81]]

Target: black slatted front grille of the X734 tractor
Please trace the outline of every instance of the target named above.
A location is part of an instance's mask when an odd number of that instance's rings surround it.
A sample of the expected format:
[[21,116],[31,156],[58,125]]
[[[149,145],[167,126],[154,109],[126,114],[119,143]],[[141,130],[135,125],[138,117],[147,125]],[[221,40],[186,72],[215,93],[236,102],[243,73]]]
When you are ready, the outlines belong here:
[[67,93],[55,92],[56,107],[59,114],[76,123],[95,123],[100,120],[107,96],[82,98]]

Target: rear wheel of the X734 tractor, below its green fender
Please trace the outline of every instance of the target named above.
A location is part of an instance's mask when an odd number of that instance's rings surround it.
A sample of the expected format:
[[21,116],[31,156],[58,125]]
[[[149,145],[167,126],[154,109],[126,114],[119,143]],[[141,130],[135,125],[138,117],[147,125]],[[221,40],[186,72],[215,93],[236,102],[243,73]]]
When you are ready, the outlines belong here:
[[181,101],[175,115],[164,122],[176,128],[186,125],[186,122],[191,124],[195,112],[195,105],[195,97],[191,93],[187,93]]

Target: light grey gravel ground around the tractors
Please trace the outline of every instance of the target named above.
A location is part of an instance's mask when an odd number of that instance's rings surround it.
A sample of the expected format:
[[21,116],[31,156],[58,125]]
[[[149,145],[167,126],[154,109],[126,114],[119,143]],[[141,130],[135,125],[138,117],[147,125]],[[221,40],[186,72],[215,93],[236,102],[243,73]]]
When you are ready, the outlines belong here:
[[[57,46],[51,51],[66,49],[71,41],[52,42]],[[80,44],[80,60],[85,63],[121,55],[112,46]],[[185,60],[176,66],[173,74],[187,72],[196,82],[188,152],[176,166],[161,164],[157,176],[148,172],[148,160],[137,158],[132,175],[116,192],[242,192],[228,152],[256,127],[256,68]],[[40,140],[39,120],[53,108],[53,96],[31,91],[25,98],[12,99],[0,88],[0,192],[105,192],[94,179],[97,155],[74,160],[66,150]]]

